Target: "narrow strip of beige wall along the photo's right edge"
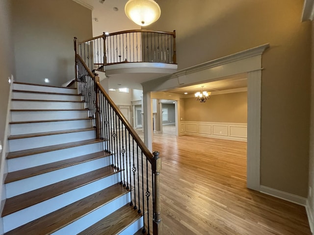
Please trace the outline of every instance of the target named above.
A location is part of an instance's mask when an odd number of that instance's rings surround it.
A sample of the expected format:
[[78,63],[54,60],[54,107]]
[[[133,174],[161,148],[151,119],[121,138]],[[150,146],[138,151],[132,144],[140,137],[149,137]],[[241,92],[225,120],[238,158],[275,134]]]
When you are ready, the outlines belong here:
[[[312,61],[314,61],[314,21],[312,21]],[[312,62],[312,74],[311,74],[311,133],[310,133],[310,163],[309,163],[309,188],[312,192],[309,193],[308,203],[309,210],[311,211],[312,216],[314,216],[314,63]],[[312,220],[314,217],[312,218]],[[314,220],[312,221],[314,223]]]

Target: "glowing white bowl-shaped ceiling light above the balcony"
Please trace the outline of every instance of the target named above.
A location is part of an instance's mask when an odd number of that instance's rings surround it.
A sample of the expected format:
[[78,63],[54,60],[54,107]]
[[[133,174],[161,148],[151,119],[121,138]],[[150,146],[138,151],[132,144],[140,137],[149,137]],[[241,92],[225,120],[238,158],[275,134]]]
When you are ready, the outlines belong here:
[[129,0],[124,10],[127,17],[140,26],[156,22],[161,14],[160,7],[155,0]]

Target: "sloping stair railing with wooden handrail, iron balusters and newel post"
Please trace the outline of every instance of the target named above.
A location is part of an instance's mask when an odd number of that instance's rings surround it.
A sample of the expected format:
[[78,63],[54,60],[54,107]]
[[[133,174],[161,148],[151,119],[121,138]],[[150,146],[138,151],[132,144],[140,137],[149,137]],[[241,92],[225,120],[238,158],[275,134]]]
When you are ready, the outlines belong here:
[[[153,234],[154,235],[161,235],[161,207],[160,207],[160,195],[159,195],[159,174],[160,174],[160,170],[161,170],[161,159],[159,158],[159,153],[157,151],[151,153],[150,150],[146,147],[146,145],[144,144],[144,142],[140,139],[140,137],[137,135],[137,133],[135,132],[135,130],[133,129],[133,127],[131,126],[131,124],[129,123],[129,121],[124,117],[124,115],[122,114],[122,112],[120,111],[120,109],[117,107],[117,105],[112,101],[112,99],[110,98],[110,96],[105,92],[105,89],[102,87],[102,85],[100,84],[99,81],[99,76],[97,73],[93,74],[93,72],[90,71],[90,69],[87,67],[87,65],[85,64],[85,62],[83,61],[83,59],[80,57],[79,54],[75,55],[76,57],[76,66],[78,67],[78,71],[79,74],[81,75],[81,77],[79,77],[79,89],[81,91],[81,94],[84,95],[85,101],[87,101],[87,106],[89,107],[89,110],[91,113],[91,117],[95,117],[95,122],[94,122],[94,126],[96,127],[96,136],[98,139],[104,139],[107,138],[107,141],[111,141],[111,148],[110,148],[110,144],[108,146],[105,147],[104,151],[108,151],[110,153],[112,153],[112,151],[116,152],[117,155],[115,156],[115,154],[112,154],[112,164],[111,166],[114,167],[114,169],[117,169],[118,171],[121,169],[120,167],[125,167],[125,157],[127,158],[129,156],[129,176],[130,178],[128,178],[128,166],[127,167],[127,177],[125,177],[125,174],[123,174],[122,176],[122,172],[120,173],[121,176],[121,182],[120,184],[123,184],[123,187],[126,187],[126,189],[129,189],[129,183],[130,186],[132,184],[132,176],[131,176],[131,171],[133,173],[133,188],[134,190],[134,198],[132,199],[132,195],[131,195],[131,202],[130,202],[130,206],[134,205],[134,209],[136,209],[138,207],[138,213],[141,212],[141,208],[145,211],[145,203],[144,203],[144,194],[147,197],[147,219],[148,219],[148,224],[150,224],[149,222],[149,196],[150,196],[150,191],[149,191],[149,176],[148,176],[148,165],[146,165],[146,188],[144,188],[144,175],[143,175],[143,156],[146,157],[146,161],[148,161],[151,164],[151,169],[152,169],[152,196],[153,196]],[[82,82],[82,83],[81,83]],[[95,95],[91,95],[91,93],[95,92]],[[91,97],[91,98],[89,98]],[[104,99],[105,99],[105,103],[106,105],[104,105]],[[89,105],[88,105],[89,104]],[[106,112],[105,109],[108,110],[108,112],[110,114],[107,113],[107,115],[109,115],[111,117],[111,114],[114,115],[116,118],[111,122],[111,118],[109,118],[109,122],[106,116]],[[104,113],[105,112],[105,113]],[[102,117],[103,118],[102,120]],[[102,116],[102,117],[101,117]],[[117,123],[117,119],[118,119],[118,123]],[[118,149],[118,143],[120,145],[120,132],[118,131],[120,129],[120,122],[122,123],[122,127],[124,127],[124,129],[122,129],[122,148],[121,146],[119,147],[120,149]],[[111,134],[108,135],[108,129],[105,130],[105,127],[102,128],[102,125],[108,125],[109,128],[112,128],[112,123],[113,124],[113,129],[111,129]],[[104,131],[107,134],[104,134]],[[125,131],[125,137],[127,138],[127,131],[129,133],[129,151],[131,149],[130,147],[130,139],[132,137],[132,144],[133,144],[133,155],[131,153],[126,154],[126,148],[123,147],[123,133]],[[119,141],[116,140],[116,142],[114,141],[116,137],[119,137]],[[110,140],[111,139],[111,140]],[[127,139],[125,139],[127,140]],[[112,146],[112,142],[113,142],[113,146]],[[140,168],[136,169],[136,166],[134,165],[134,161],[136,161],[136,159],[134,160],[134,142],[136,143],[136,148],[137,148],[137,168],[138,163],[139,163],[139,156],[138,156],[138,148],[141,150],[141,158],[142,158],[142,188],[140,189],[140,185],[139,185],[139,181],[137,182],[137,185],[135,183],[135,172],[137,170],[137,179],[139,179],[139,175],[140,175]],[[116,143],[116,145],[115,145]],[[118,156],[118,153],[120,153],[120,156]],[[133,158],[133,167],[131,168],[131,156]],[[122,159],[121,159],[122,157]],[[119,159],[120,158],[120,159]],[[126,159],[126,164],[128,165],[128,160]],[[129,181],[130,179],[130,181]],[[132,188],[132,186],[131,186]],[[135,196],[135,191],[137,188],[137,198]],[[141,190],[141,192],[140,192]],[[146,190],[146,191],[145,191]],[[140,206],[140,193],[142,195],[142,205]],[[134,200],[134,204],[133,201]],[[145,226],[145,215],[143,216],[143,223]],[[150,228],[148,225],[148,233],[150,234]],[[145,229],[143,229],[142,231],[143,233],[145,233]]]

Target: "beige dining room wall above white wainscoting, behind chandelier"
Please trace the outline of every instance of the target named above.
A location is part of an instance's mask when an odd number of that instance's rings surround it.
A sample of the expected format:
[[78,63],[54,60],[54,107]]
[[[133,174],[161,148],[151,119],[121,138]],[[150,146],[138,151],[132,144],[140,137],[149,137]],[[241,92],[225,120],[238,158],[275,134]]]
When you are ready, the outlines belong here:
[[247,123],[247,92],[211,95],[205,103],[184,99],[184,121]]

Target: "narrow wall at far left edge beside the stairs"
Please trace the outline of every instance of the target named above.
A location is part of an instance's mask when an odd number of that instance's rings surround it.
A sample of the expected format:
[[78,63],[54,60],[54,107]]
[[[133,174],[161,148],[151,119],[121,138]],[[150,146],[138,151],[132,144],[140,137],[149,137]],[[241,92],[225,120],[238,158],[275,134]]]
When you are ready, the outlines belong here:
[[0,141],[2,145],[10,91],[8,77],[11,77],[11,74],[15,75],[10,7],[10,0],[0,1]]

